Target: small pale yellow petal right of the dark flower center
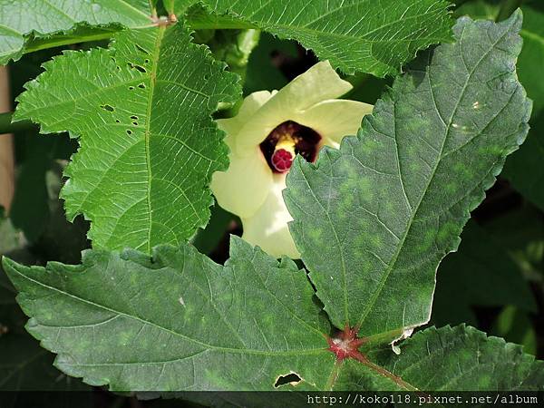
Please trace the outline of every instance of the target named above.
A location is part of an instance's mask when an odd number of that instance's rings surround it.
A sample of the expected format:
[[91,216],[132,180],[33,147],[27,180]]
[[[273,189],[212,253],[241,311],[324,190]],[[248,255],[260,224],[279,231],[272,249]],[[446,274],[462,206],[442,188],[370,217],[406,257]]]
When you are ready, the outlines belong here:
[[337,149],[344,136],[357,133],[364,115],[372,113],[373,108],[364,102],[336,99],[316,103],[297,119],[317,131],[324,138],[323,144]]

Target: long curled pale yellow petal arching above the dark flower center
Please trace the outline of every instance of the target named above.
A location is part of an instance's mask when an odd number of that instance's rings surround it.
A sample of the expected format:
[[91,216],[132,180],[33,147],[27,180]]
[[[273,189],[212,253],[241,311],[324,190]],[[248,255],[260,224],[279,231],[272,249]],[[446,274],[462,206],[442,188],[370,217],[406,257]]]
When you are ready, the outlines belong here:
[[239,131],[236,151],[240,155],[267,138],[278,124],[296,121],[299,112],[318,102],[337,98],[352,89],[328,61],[316,63],[274,94]]

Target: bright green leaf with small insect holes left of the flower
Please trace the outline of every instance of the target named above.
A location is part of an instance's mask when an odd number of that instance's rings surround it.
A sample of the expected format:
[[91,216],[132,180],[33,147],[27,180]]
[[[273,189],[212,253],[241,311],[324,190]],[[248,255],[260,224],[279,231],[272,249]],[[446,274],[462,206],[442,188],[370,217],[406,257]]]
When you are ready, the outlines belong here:
[[108,50],[67,52],[44,66],[15,119],[80,137],[62,198],[69,219],[92,220],[95,247],[150,253],[206,225],[211,174],[228,164],[210,114],[237,100],[235,74],[191,44],[182,23],[122,32]]

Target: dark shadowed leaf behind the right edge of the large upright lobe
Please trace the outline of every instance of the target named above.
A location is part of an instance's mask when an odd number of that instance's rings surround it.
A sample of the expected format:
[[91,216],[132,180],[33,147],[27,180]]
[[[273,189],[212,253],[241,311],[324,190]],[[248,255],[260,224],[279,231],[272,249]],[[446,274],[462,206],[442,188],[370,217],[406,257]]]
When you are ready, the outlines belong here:
[[467,224],[459,251],[446,257],[438,269],[434,325],[476,324],[471,306],[512,305],[526,312],[537,311],[529,283],[507,249],[475,222]]

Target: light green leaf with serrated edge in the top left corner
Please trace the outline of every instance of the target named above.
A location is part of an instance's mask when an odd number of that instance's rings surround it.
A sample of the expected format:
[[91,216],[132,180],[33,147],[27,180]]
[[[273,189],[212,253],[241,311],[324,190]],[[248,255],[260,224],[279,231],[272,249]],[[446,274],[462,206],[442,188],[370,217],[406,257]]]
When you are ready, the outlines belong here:
[[[108,38],[112,26],[92,29],[89,24],[112,23],[150,25],[148,0],[0,0],[0,64],[19,59],[27,47]],[[68,35],[68,43],[64,35]]]

